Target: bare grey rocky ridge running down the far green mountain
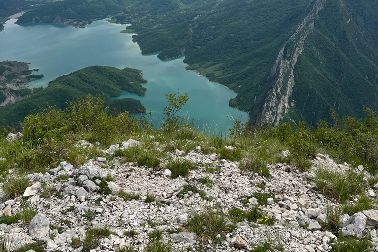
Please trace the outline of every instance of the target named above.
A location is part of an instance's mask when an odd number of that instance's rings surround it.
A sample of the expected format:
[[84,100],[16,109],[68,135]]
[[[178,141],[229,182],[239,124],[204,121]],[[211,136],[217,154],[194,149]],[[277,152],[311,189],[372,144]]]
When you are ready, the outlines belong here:
[[310,1],[309,7],[312,5],[312,10],[284,44],[270,70],[268,81],[274,80],[274,84],[261,113],[268,124],[278,124],[288,112],[290,106],[295,105],[294,100],[289,102],[295,84],[294,66],[303,52],[305,40],[308,34],[313,31],[314,21],[318,18],[318,12],[323,9],[325,2],[326,0]]

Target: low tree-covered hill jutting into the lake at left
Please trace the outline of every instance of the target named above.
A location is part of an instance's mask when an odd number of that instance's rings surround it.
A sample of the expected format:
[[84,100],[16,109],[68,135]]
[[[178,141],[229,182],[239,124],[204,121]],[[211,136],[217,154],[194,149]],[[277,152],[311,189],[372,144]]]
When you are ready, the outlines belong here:
[[0,126],[18,126],[19,122],[34,110],[57,106],[64,109],[67,101],[91,95],[103,95],[105,104],[114,107],[112,111],[142,112],[145,108],[139,100],[125,98],[111,100],[125,90],[129,93],[144,95],[146,88],[137,69],[118,69],[109,66],[90,66],[73,73],[63,75],[51,81],[46,88],[23,89],[11,91],[17,95],[30,95],[29,98],[0,107]]

